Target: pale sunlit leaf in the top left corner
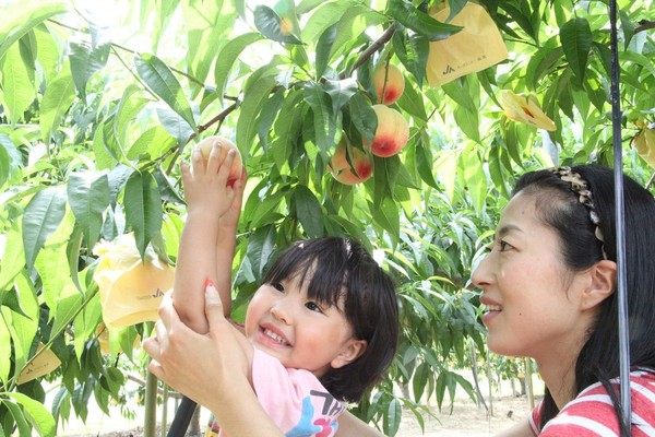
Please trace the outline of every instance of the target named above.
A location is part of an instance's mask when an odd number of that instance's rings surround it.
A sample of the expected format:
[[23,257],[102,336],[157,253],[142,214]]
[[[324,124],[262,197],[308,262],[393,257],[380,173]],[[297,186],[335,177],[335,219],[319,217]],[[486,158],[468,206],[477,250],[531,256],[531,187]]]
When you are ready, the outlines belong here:
[[3,7],[2,25],[0,25],[0,59],[9,48],[39,23],[57,14],[68,12],[70,4],[66,1],[22,1]]

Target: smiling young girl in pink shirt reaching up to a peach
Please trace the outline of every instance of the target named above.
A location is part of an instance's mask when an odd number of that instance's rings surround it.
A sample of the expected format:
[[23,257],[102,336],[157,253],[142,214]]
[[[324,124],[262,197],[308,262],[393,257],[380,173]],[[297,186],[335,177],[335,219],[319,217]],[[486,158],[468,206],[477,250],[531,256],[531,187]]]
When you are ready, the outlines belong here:
[[[198,151],[182,167],[188,218],[172,304],[181,320],[207,331],[204,281],[219,284],[227,316],[236,225],[245,177],[227,185],[234,152],[206,165]],[[391,364],[398,335],[391,277],[359,243],[298,241],[284,250],[253,295],[240,345],[265,411],[289,436],[332,436],[346,402],[357,401]]]

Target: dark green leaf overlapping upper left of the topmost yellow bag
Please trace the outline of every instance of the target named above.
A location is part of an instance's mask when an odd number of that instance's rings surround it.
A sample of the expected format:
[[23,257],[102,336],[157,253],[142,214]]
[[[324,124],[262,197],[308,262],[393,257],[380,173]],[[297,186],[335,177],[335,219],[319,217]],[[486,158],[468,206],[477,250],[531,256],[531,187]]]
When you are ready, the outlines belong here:
[[389,0],[386,14],[430,40],[441,40],[456,34],[461,26],[441,23],[405,0]]

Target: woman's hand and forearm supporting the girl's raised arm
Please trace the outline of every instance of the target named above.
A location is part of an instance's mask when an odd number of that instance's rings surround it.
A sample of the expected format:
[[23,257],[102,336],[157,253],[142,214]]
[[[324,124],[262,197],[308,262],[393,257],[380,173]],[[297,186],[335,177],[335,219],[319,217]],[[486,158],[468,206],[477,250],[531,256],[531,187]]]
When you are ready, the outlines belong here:
[[227,435],[283,436],[250,386],[252,346],[223,315],[214,286],[207,286],[204,302],[210,328],[203,335],[180,320],[170,294],[164,297],[156,333],[143,342],[152,358],[148,370],[210,409]]

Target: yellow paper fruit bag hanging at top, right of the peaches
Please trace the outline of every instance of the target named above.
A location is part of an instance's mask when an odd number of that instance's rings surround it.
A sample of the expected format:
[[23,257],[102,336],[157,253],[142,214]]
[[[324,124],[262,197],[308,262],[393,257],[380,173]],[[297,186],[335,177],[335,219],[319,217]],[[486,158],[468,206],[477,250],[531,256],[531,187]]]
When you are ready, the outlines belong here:
[[[445,22],[450,7],[439,5],[430,15]],[[449,24],[462,31],[430,43],[426,75],[430,86],[443,85],[463,75],[481,71],[508,59],[508,49],[496,23],[485,8],[468,2]]]

